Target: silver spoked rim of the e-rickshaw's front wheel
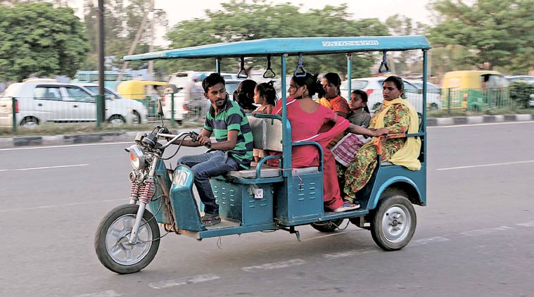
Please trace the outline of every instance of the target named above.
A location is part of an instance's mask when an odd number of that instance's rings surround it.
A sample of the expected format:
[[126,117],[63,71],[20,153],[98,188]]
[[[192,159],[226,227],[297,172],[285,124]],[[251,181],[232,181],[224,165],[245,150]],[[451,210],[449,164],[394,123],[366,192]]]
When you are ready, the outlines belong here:
[[145,258],[152,246],[152,230],[146,220],[141,221],[137,233],[137,243],[129,244],[129,234],[135,223],[135,215],[122,215],[108,228],[106,251],[120,265],[134,265]]

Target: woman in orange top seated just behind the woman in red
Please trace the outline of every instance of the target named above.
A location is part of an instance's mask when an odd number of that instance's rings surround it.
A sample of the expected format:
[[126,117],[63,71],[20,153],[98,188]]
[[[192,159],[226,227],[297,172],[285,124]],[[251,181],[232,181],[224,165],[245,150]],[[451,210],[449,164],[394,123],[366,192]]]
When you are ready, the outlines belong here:
[[[317,100],[317,103],[331,109],[336,115],[343,118],[348,118],[350,108],[348,107],[347,99],[341,96],[341,78],[337,73],[328,72],[321,79],[323,97]],[[344,134],[339,134],[334,137],[328,148],[332,148],[336,143],[342,139]]]

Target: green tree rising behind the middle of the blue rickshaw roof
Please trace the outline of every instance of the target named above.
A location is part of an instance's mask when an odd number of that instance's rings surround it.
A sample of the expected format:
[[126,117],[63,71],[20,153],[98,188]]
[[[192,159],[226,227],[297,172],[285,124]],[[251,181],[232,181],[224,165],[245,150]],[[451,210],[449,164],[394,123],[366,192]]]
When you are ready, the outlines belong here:
[[[205,18],[186,20],[175,25],[167,34],[172,48],[199,46],[217,42],[236,42],[250,39],[274,37],[342,37],[387,35],[388,30],[377,19],[350,20],[345,4],[301,13],[291,4],[272,4],[265,0],[231,0],[222,4],[218,11],[205,11]],[[353,77],[369,76],[374,63],[371,53],[353,56]],[[249,68],[265,68],[265,58],[247,58]],[[158,63],[158,65],[163,62]],[[209,61],[165,62],[172,71],[214,70],[215,63]],[[297,58],[288,58],[288,72],[293,71]],[[223,71],[239,71],[235,60],[222,61]],[[273,63],[274,72],[280,73],[279,63]],[[294,66],[293,66],[294,65]],[[309,72],[338,72],[345,76],[346,60],[343,56],[305,56],[304,66]]]

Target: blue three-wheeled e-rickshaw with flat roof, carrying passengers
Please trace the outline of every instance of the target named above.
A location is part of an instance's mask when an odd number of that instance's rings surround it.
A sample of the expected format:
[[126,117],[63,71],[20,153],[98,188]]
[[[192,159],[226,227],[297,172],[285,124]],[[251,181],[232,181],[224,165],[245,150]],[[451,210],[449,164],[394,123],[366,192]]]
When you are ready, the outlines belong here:
[[[270,59],[277,57],[281,62],[281,77],[286,77],[288,56],[298,56],[293,75],[302,75],[305,73],[303,56],[339,53],[347,57],[350,82],[353,53],[379,51],[383,53],[380,70],[387,70],[386,51],[421,50],[425,106],[427,51],[430,48],[424,36],[273,38],[144,53],[126,56],[125,61],[213,58],[215,71],[220,72],[222,58],[241,58],[243,61],[243,57],[265,56],[270,66]],[[267,67],[264,76],[272,77],[273,74]],[[201,223],[199,206],[192,191],[191,168],[185,165],[166,168],[163,163],[165,148],[172,142],[186,137],[194,139],[197,134],[170,134],[162,122],[162,127],[136,136],[135,144],[126,148],[134,168],[129,175],[132,182],[129,204],[110,210],[96,231],[96,254],[105,267],[126,274],[138,272],[151,263],[160,244],[158,223],[167,232],[198,240],[272,230],[285,230],[296,234],[300,240],[295,227],[311,225],[320,232],[334,232],[343,220],[348,219],[358,227],[369,229],[376,244],[385,251],[399,250],[409,243],[417,222],[413,205],[426,206],[426,110],[420,115],[418,132],[402,135],[421,138],[421,170],[382,163],[379,157],[371,180],[357,193],[361,208],[334,213],[325,211],[323,206],[322,146],[313,141],[291,140],[291,122],[286,116],[288,86],[286,80],[281,80],[281,84],[281,116],[248,117],[255,148],[279,151],[281,156],[267,156],[250,170],[212,178],[212,189],[222,217],[220,224],[206,227]],[[349,86],[349,92],[350,89]],[[165,139],[170,141],[158,142]],[[381,142],[375,144],[380,153]],[[317,147],[321,160],[319,166],[291,168],[291,148],[300,145]],[[278,159],[279,168],[267,167],[265,161],[269,159]]]

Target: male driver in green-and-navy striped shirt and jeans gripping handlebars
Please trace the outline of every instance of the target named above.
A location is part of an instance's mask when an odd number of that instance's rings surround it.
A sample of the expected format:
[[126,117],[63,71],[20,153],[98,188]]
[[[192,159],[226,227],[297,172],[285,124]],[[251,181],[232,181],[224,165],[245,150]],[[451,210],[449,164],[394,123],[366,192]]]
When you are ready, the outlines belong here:
[[[182,156],[178,159],[178,164],[187,165],[193,170],[198,196],[205,206],[202,222],[205,226],[210,226],[221,222],[210,177],[250,168],[253,137],[242,108],[228,99],[224,78],[221,75],[218,73],[208,75],[203,80],[202,87],[205,98],[211,102],[210,110],[197,141],[186,139],[182,145],[205,146],[210,142],[212,133],[215,134],[217,142],[210,146],[213,151],[196,156]],[[180,142],[175,141],[175,144]]]

